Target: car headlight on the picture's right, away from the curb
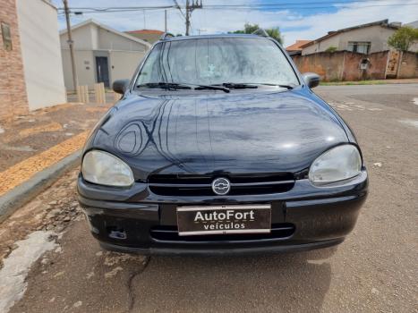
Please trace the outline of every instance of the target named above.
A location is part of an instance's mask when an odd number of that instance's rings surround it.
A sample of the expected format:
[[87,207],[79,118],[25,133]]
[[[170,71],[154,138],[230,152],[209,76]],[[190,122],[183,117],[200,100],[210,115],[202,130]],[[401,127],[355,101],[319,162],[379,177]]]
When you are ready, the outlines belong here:
[[353,145],[337,146],[324,152],[313,161],[309,179],[313,183],[344,181],[362,170],[362,157]]

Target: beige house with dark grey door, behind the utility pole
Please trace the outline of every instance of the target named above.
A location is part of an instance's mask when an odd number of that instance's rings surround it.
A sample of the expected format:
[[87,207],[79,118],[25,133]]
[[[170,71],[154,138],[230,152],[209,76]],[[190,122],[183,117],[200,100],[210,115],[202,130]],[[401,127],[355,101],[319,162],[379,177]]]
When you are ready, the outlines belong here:
[[[74,25],[72,33],[79,84],[90,88],[97,82],[110,87],[115,80],[130,79],[151,46],[140,38],[93,20]],[[60,39],[65,87],[74,89],[66,30],[60,32]]]

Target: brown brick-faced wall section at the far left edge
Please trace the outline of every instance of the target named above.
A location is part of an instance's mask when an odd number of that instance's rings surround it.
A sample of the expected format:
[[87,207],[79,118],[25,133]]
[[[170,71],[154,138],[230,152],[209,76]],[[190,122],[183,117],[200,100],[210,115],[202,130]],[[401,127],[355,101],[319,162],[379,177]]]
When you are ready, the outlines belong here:
[[0,22],[10,25],[13,43],[6,51],[0,34],[0,120],[29,111],[15,2],[0,0]]

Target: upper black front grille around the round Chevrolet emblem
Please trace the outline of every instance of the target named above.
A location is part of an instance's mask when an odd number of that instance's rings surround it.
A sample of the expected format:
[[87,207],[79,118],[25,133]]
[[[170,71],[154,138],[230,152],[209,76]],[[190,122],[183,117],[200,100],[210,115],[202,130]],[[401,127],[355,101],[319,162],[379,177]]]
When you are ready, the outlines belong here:
[[161,196],[218,196],[212,182],[225,177],[231,182],[228,195],[258,195],[280,193],[294,187],[293,173],[256,173],[227,175],[153,174],[149,176],[149,190]]

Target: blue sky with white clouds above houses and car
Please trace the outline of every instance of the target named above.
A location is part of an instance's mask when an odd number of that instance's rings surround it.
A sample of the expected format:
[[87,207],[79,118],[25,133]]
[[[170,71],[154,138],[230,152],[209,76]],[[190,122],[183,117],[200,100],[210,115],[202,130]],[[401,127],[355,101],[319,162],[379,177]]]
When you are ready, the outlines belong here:
[[[192,0],[191,0],[192,1]],[[62,0],[52,0],[63,7]],[[174,0],[68,0],[70,8],[107,8],[129,6],[174,5]],[[180,6],[185,0],[177,0]],[[202,0],[203,9],[192,12],[192,35],[218,34],[242,30],[243,24],[257,23],[262,28],[278,27],[284,37],[284,46],[296,39],[315,39],[330,30],[339,30],[371,21],[388,19],[403,23],[418,20],[418,0]],[[217,6],[210,5],[238,5]],[[205,6],[207,6],[205,8]],[[83,11],[79,9],[78,11]],[[72,14],[72,24],[94,19],[115,30],[164,30],[164,10],[146,10],[119,13]],[[58,15],[59,27],[65,19]],[[167,30],[184,34],[182,13],[175,8],[167,10]]]

